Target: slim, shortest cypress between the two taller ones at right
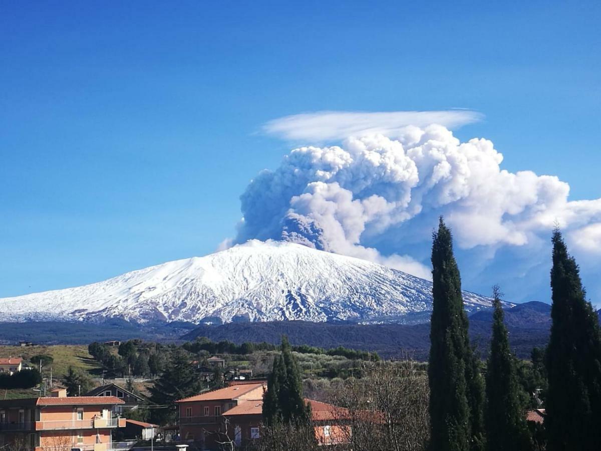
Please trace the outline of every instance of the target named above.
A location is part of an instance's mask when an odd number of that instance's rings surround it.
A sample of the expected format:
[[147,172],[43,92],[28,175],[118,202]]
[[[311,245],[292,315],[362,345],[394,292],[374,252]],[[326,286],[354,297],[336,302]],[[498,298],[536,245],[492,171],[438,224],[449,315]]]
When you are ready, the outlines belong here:
[[503,321],[499,287],[493,288],[492,340],[486,367],[486,438],[489,451],[526,451],[528,430],[523,415],[516,359]]

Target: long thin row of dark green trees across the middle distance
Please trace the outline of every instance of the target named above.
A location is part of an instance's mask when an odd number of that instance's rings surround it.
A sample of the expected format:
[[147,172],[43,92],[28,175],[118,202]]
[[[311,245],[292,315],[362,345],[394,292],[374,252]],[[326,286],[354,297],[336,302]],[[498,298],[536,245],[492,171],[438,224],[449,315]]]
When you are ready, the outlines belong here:
[[[236,345],[236,343],[230,342],[229,340],[213,342],[207,337],[198,337],[196,340],[194,340],[194,342],[184,343],[182,348],[188,352],[191,352],[192,354],[198,354],[201,351],[206,351],[209,354],[248,355],[258,351],[277,351],[279,346],[267,342],[245,342],[241,345]],[[324,349],[317,348],[316,346],[300,345],[291,346],[291,350],[294,352],[299,352],[300,354],[340,355],[351,360],[380,360],[377,352],[348,349],[344,348],[343,346],[338,346],[338,348],[334,349]]]

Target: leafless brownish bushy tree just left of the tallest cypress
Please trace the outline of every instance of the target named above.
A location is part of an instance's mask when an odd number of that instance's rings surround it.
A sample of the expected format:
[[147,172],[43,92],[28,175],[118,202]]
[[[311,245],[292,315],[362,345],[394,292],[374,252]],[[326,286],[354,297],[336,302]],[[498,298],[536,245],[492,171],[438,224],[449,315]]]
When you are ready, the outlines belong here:
[[[428,380],[413,361],[365,363],[364,377],[347,379],[333,403],[350,428],[352,449],[421,451],[429,439]],[[344,416],[347,420],[343,420]]]

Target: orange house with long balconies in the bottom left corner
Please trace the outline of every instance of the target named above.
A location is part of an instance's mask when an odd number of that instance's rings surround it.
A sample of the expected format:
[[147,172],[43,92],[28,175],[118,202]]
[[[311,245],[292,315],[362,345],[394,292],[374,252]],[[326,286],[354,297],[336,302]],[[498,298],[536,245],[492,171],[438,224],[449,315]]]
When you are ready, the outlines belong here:
[[109,451],[112,431],[124,428],[115,417],[117,397],[71,396],[56,390],[49,397],[0,400],[0,448],[17,443],[31,451]]

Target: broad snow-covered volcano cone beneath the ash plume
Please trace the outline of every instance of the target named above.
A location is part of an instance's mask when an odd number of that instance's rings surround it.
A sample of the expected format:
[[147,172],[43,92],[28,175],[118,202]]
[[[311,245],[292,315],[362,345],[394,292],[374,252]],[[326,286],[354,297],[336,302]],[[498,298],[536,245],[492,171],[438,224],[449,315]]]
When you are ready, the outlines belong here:
[[[491,305],[484,296],[463,296],[468,311]],[[0,299],[0,321],[415,322],[427,321],[431,310],[432,283],[427,280],[273,241],[249,241],[81,287]]]

